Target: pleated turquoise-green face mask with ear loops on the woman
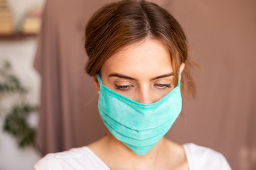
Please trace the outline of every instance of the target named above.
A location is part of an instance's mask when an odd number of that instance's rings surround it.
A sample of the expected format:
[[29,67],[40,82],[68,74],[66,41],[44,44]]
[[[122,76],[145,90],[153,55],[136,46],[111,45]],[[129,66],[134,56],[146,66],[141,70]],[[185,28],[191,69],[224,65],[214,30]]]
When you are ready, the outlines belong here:
[[181,113],[180,79],[169,94],[151,104],[132,101],[104,86],[98,74],[97,79],[100,83],[98,108],[103,122],[117,140],[137,155],[147,154]]

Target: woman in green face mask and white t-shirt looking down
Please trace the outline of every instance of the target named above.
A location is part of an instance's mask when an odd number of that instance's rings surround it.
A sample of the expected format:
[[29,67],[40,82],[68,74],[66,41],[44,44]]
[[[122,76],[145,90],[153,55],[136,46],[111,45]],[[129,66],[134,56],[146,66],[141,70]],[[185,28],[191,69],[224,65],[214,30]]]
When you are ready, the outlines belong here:
[[86,72],[110,132],[87,147],[48,154],[34,169],[230,169],[222,154],[164,135],[193,94],[188,47],[170,13],[146,1],[100,8],[87,23]]

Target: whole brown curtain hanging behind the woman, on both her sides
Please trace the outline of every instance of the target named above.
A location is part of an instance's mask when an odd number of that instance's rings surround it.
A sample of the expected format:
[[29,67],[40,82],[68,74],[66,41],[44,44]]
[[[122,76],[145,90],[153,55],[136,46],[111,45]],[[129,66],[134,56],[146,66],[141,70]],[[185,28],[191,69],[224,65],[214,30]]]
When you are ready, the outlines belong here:
[[[107,132],[97,113],[97,92],[84,72],[84,28],[110,1],[50,0],[35,66],[41,74],[37,133],[42,154],[87,145]],[[224,154],[233,169],[256,169],[256,1],[155,1],[183,26],[193,69],[195,99],[167,133]]]

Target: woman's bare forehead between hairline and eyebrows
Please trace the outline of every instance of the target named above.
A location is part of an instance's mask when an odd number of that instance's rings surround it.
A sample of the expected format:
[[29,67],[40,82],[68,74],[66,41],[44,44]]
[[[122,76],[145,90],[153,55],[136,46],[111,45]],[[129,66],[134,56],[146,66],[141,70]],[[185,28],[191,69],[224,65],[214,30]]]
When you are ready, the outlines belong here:
[[166,74],[172,72],[171,57],[166,45],[148,39],[123,47],[102,65],[102,73]]

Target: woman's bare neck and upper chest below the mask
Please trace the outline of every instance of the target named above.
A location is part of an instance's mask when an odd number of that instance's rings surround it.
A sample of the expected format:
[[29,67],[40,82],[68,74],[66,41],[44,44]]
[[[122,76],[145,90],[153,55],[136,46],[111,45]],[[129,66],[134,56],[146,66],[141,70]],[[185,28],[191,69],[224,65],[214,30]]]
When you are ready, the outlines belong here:
[[188,170],[184,149],[165,137],[149,151],[138,156],[110,132],[102,139],[88,145],[110,169],[176,169]]

